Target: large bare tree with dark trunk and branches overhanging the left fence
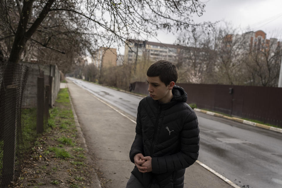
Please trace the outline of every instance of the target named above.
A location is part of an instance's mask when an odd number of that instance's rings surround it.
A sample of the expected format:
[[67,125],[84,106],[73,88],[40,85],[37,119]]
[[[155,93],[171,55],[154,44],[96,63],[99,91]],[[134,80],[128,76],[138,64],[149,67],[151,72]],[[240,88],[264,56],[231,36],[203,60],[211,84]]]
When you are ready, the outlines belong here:
[[[99,39],[101,45],[111,46],[115,42],[121,45],[131,38],[132,33],[155,35],[157,29],[187,30],[203,25],[194,24],[191,14],[202,14],[204,6],[197,0],[124,0],[119,3],[94,0],[4,0],[1,1],[1,21],[6,30],[1,33],[1,38],[10,38],[11,45],[8,44],[6,49],[9,62],[18,63],[28,40],[35,40],[46,48],[56,50],[50,43],[54,35],[46,37],[45,34],[47,30],[62,26],[60,23],[58,25],[57,19],[71,33],[70,37],[75,32],[87,33],[93,36],[94,41]],[[41,40],[33,38],[36,32],[43,34]]]

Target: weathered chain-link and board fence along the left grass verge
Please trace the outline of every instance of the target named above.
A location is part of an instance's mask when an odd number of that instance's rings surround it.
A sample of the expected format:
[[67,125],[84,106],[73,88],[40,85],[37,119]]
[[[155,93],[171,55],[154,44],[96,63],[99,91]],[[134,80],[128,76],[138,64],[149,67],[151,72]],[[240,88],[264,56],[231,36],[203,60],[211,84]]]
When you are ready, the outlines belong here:
[[60,83],[56,66],[47,67],[0,64],[0,187],[16,180],[36,135],[47,126]]

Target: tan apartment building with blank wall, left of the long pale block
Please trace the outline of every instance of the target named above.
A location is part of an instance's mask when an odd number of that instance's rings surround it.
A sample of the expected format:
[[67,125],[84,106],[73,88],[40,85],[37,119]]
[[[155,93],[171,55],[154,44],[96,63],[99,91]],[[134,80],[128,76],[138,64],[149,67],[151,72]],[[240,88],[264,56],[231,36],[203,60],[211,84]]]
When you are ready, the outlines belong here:
[[94,52],[93,64],[101,70],[116,66],[117,64],[117,49],[100,47]]

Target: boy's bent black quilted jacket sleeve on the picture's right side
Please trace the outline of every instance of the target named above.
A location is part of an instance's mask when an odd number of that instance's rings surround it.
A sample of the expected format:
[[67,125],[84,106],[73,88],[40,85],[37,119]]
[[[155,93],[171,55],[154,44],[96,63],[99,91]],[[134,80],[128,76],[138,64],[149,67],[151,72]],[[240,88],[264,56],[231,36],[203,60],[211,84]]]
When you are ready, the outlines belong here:
[[199,127],[194,111],[186,118],[181,132],[181,150],[173,155],[152,158],[153,173],[173,172],[189,167],[199,155]]

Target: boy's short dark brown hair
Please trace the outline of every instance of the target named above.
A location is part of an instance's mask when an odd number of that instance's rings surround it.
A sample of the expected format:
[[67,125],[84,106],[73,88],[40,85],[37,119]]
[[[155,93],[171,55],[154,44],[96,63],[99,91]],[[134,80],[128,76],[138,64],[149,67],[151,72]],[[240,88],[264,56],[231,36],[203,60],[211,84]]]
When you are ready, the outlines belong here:
[[149,77],[159,76],[160,80],[165,85],[169,85],[170,82],[175,83],[177,81],[177,77],[178,77],[177,67],[169,61],[160,60],[152,64],[148,68],[147,76]]

